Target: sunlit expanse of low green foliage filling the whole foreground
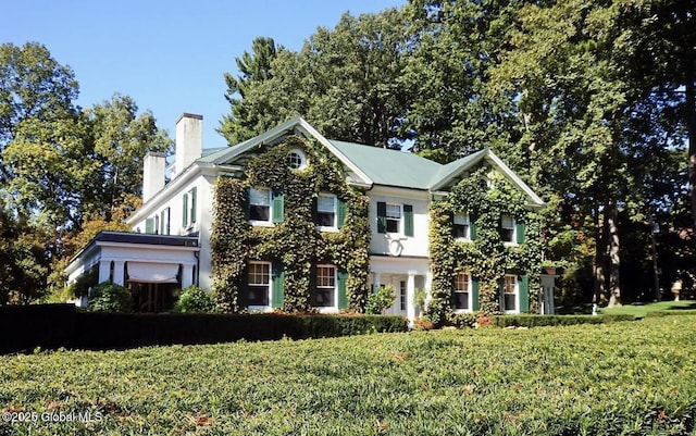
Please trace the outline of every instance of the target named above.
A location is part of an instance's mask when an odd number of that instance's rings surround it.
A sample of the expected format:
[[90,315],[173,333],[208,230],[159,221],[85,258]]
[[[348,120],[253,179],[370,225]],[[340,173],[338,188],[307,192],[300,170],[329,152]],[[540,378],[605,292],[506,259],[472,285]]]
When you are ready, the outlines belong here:
[[[5,356],[0,408],[37,421],[0,435],[696,435],[695,333],[675,315]],[[96,422],[41,422],[73,412]]]

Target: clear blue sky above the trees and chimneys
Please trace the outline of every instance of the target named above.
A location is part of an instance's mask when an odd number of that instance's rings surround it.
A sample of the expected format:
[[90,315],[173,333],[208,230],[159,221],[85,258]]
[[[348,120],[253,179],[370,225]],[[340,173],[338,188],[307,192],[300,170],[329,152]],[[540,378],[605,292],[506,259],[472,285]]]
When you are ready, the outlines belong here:
[[2,1],[0,43],[44,43],[70,65],[83,108],[114,92],[151,110],[174,136],[183,112],[203,115],[203,147],[224,146],[215,128],[229,112],[223,74],[257,36],[298,50],[340,15],[380,12],[406,0]]

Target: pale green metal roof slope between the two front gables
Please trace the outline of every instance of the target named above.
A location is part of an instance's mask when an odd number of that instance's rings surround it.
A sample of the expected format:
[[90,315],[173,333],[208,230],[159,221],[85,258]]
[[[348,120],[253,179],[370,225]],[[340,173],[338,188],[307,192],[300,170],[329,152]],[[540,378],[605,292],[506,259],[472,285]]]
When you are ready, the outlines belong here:
[[377,185],[427,189],[433,176],[443,166],[405,151],[339,140],[330,141]]

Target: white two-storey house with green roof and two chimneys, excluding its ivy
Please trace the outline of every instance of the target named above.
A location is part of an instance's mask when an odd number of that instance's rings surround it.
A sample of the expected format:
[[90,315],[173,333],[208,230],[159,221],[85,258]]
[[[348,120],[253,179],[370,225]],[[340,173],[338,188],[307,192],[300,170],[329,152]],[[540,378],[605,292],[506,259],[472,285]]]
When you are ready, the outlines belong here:
[[[447,197],[449,188],[465,177],[470,170],[485,164],[523,192],[527,208],[544,204],[488,149],[443,165],[413,153],[330,140],[301,117],[233,147],[203,149],[201,126],[200,115],[185,113],[178,120],[175,161],[169,169],[169,182],[165,182],[165,157],[161,153],[146,157],[144,203],[127,220],[133,233],[100,234],[67,266],[69,282],[76,281],[88,271],[96,272],[99,282],[112,281],[129,286],[142,311],[164,310],[171,303],[167,295],[174,287],[196,284],[211,289],[211,235],[216,179],[221,176],[241,177],[247,162],[260,148],[272,148],[289,136],[307,138],[323,148],[341,166],[346,184],[369,198],[371,238],[366,288],[394,285],[397,298],[388,313],[403,314],[410,320],[417,315],[413,303],[415,289],[430,289],[433,277],[428,253],[431,202]],[[299,148],[286,155],[286,164],[294,170],[301,170],[311,166],[312,159],[315,158]],[[250,224],[273,226],[274,198],[271,189],[251,189],[249,196],[252,207]],[[338,215],[341,212],[337,208],[340,199],[326,194],[320,195],[318,200],[316,212],[321,215],[318,229],[338,232]],[[506,226],[505,223],[502,225]],[[509,223],[509,244],[514,245],[515,227],[513,223]],[[470,237],[469,227],[469,216],[455,216],[453,229],[458,233],[458,239],[467,240]],[[316,271],[322,277],[314,286],[330,287],[331,292],[345,291],[338,285],[340,277],[337,269],[320,266]],[[249,306],[261,310],[276,306],[271,302],[274,299],[273,281],[276,279],[272,265],[254,262],[247,274],[248,284],[253,285],[256,291],[261,289],[262,294],[268,295],[253,297],[253,304]],[[514,289],[514,286],[510,289]],[[471,299],[471,295],[468,296]],[[277,302],[277,296],[275,299]],[[331,304],[321,306],[320,310],[337,312],[341,309],[341,296],[331,298],[326,300]],[[463,301],[458,308],[472,310],[475,303]],[[519,304],[511,308],[511,311],[520,310]]]

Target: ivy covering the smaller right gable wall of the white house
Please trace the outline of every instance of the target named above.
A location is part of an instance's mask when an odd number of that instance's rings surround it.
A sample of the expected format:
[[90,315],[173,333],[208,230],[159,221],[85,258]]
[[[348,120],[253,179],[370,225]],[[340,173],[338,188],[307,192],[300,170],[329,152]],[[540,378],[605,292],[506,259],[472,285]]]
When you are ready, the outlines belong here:
[[[478,300],[474,301],[474,309],[484,314],[502,311],[500,289],[506,273],[526,276],[529,290],[539,288],[540,221],[525,207],[524,195],[504,176],[490,174],[490,167],[481,165],[453,186],[445,200],[433,201],[430,213],[433,282],[427,312],[435,325],[452,320],[453,282],[459,272],[469,273],[476,283]],[[471,241],[455,238],[456,213],[469,214],[472,232],[475,232]],[[524,223],[518,231],[524,233],[522,244],[504,244],[499,233],[504,214],[511,215],[517,223]],[[529,307],[536,308],[537,300],[537,292],[531,291]]]

